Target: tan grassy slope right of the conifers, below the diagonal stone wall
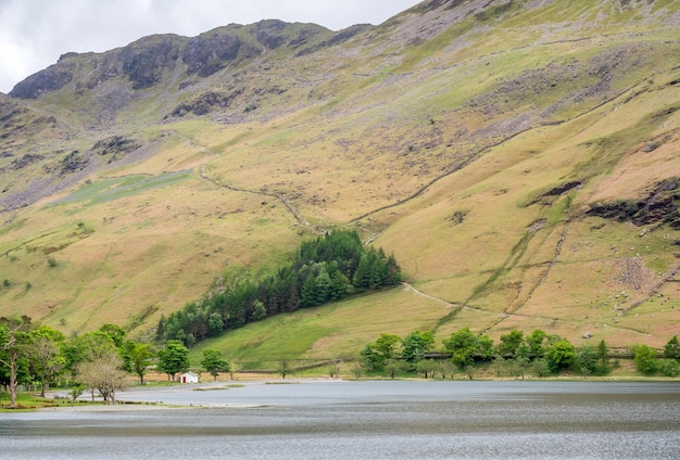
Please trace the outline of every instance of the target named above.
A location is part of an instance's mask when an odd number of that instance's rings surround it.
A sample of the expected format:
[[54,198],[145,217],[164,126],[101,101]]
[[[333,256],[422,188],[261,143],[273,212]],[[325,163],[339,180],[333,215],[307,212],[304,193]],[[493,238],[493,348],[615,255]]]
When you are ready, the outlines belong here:
[[[660,345],[678,332],[677,230],[652,226],[646,229],[654,231],[641,237],[644,228],[583,212],[596,200],[640,196],[650,183],[680,174],[678,116],[641,126],[650,123],[645,110],[656,111],[677,94],[663,81],[627,103],[615,101],[582,119],[528,131],[493,149],[468,167],[479,180],[466,170],[442,180],[432,188],[436,199],[426,194],[405,205],[413,213],[404,212],[407,217],[378,241],[395,247],[420,290],[500,315],[481,319],[477,330],[500,335],[525,324],[618,345]],[[584,162],[592,166],[595,149],[588,139],[635,130],[642,136],[619,146],[620,159],[610,169],[589,170],[593,177],[569,194],[568,209],[564,197],[550,206],[526,205],[536,189],[575,177]],[[654,139],[664,139],[663,146],[644,152]],[[531,149],[541,144],[549,148]],[[473,183],[466,187],[468,180]],[[439,189],[453,193],[439,195]],[[465,212],[461,223],[452,220],[458,210]],[[404,234],[411,235],[408,245],[391,243]],[[456,318],[441,328],[462,325]]]

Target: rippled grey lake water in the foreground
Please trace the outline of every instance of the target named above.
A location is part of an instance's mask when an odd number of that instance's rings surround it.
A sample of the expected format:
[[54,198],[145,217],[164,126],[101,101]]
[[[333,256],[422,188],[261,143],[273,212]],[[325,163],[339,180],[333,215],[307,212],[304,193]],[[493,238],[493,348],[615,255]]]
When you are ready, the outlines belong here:
[[201,408],[0,413],[0,458],[680,458],[680,382],[207,386],[118,395]]

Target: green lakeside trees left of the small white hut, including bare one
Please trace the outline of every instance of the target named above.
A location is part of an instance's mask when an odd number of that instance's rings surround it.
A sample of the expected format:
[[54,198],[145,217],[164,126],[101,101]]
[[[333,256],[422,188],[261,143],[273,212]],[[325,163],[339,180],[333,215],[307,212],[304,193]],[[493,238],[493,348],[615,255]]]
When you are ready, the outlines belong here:
[[[115,403],[134,374],[144,384],[144,375],[156,369],[175,380],[189,370],[189,349],[178,341],[168,341],[161,349],[136,342],[115,324],[83,335],[65,337],[61,332],[34,324],[28,317],[0,318],[0,385],[10,394],[10,407],[16,407],[20,385],[40,387],[45,397],[50,385],[72,388],[75,400],[88,392],[104,403]],[[201,369],[216,376],[228,372],[229,363],[216,350],[203,352]]]

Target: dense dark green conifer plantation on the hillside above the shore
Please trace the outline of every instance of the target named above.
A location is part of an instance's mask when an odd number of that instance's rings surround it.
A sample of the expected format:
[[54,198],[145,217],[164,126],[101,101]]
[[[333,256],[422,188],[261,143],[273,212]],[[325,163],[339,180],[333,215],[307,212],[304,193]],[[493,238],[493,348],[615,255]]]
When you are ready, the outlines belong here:
[[237,278],[219,292],[162,317],[158,338],[191,347],[252,321],[400,282],[401,270],[393,256],[387,256],[382,248],[364,246],[354,230],[333,230],[303,242],[293,261],[275,274],[257,282]]

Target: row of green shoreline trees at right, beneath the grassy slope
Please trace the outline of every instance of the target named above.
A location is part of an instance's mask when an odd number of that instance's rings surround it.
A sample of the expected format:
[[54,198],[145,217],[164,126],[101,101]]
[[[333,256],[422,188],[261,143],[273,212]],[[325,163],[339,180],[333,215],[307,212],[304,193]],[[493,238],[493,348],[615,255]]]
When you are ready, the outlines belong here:
[[[641,344],[632,345],[630,354],[637,370],[645,375],[680,375],[680,343],[675,335],[660,357],[656,349]],[[577,348],[565,337],[537,329],[528,335],[513,330],[501,335],[496,344],[487,334],[463,328],[443,338],[440,347],[431,331],[414,331],[405,337],[381,334],[360,353],[357,374],[364,371],[394,378],[419,373],[427,379],[458,371],[471,380],[482,366],[492,366],[496,376],[507,372],[524,379],[526,373],[540,378],[569,371],[584,378],[606,375],[614,365],[604,340],[596,346]]]

